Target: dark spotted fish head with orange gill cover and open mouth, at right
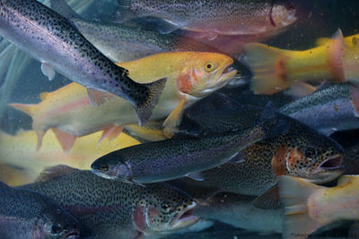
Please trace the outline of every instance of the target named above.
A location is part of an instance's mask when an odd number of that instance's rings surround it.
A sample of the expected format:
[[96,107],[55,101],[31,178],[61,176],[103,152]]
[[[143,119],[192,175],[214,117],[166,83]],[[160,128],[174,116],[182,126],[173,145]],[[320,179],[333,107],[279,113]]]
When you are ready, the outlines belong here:
[[344,149],[334,140],[310,128],[290,132],[276,149],[272,169],[276,175],[292,175],[324,184],[344,173]]

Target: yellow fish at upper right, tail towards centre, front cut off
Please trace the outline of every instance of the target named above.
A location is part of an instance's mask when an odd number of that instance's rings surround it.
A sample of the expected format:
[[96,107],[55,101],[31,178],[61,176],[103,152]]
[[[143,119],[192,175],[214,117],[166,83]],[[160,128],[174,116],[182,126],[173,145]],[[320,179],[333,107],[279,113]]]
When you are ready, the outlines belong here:
[[359,42],[358,35],[343,38],[339,30],[335,38],[320,38],[319,47],[304,51],[249,44],[246,59],[254,73],[251,89],[258,94],[273,94],[299,81],[345,82],[354,78],[357,81],[353,76],[356,69],[346,67],[346,62],[359,54],[354,51],[356,42]]

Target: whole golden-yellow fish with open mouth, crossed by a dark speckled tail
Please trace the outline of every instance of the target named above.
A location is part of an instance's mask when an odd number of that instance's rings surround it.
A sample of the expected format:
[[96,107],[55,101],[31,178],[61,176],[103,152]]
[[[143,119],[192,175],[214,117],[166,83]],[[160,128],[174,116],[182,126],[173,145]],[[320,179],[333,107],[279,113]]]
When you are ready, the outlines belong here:
[[[218,53],[172,52],[118,63],[129,70],[139,83],[167,78],[151,120],[167,117],[166,130],[180,124],[183,110],[231,81],[236,70],[230,69],[231,57]],[[57,135],[64,150],[72,148],[77,137],[104,131],[103,138],[116,136],[127,124],[137,124],[130,104],[123,98],[110,98],[101,106],[92,106],[87,90],[71,83],[51,93],[42,93],[39,104],[9,104],[32,117],[32,129],[38,134],[37,149],[48,129]]]

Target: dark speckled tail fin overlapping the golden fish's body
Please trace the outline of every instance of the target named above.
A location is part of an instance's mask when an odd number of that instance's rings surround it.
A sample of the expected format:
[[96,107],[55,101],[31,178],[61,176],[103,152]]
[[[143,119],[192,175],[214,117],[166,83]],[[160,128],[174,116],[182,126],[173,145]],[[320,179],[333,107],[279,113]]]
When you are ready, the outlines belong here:
[[153,108],[157,105],[158,100],[161,97],[162,90],[166,86],[166,81],[167,78],[162,78],[158,81],[144,84],[149,90],[148,98],[144,102],[137,104],[135,107],[138,124],[140,126],[143,126],[151,117]]

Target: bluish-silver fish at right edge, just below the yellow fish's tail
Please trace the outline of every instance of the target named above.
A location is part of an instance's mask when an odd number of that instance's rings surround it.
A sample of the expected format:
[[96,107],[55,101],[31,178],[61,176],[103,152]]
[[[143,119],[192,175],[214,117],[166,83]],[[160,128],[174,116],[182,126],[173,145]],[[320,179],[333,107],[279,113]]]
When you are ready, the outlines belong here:
[[359,89],[350,84],[335,84],[317,90],[281,107],[278,111],[311,128],[330,135],[359,128]]

